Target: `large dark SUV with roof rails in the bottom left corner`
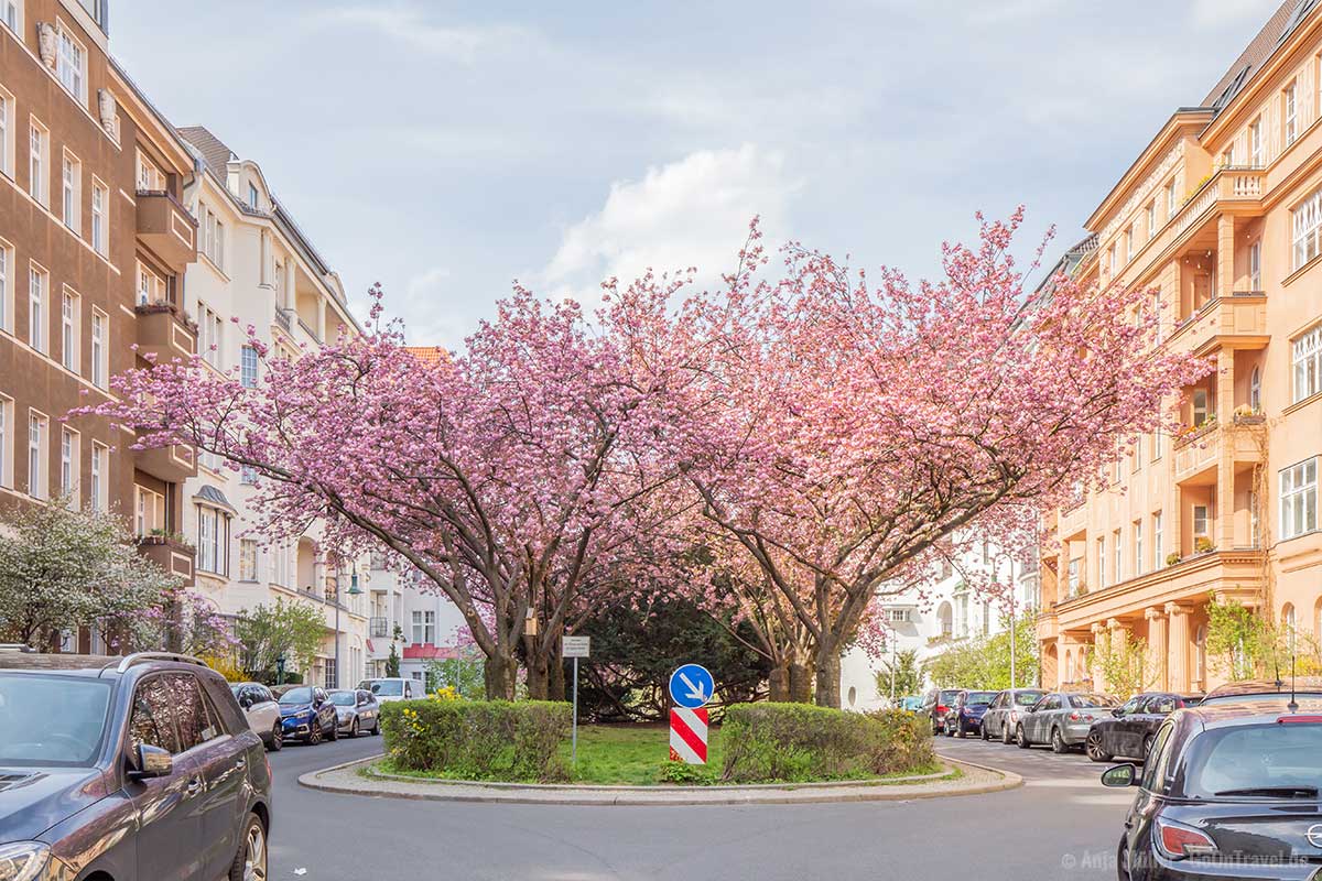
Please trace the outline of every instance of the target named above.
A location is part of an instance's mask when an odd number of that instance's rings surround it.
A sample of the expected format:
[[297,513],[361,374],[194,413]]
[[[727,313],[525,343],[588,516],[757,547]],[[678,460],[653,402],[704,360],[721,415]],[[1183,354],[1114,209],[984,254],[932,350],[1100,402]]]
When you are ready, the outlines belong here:
[[0,651],[0,877],[267,877],[271,769],[202,662]]

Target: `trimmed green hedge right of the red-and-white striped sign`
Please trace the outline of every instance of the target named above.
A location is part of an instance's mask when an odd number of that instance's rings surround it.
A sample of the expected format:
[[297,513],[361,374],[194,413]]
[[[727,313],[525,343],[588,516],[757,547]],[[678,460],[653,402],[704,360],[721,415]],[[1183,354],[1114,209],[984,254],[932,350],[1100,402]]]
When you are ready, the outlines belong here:
[[720,729],[731,783],[863,779],[936,765],[925,720],[903,711],[847,713],[809,704],[735,704]]

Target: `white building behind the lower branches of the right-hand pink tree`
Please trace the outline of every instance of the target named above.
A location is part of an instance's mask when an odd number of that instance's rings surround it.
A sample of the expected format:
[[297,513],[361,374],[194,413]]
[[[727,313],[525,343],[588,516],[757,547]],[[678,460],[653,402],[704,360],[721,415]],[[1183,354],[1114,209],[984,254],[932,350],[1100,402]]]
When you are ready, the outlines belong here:
[[[989,597],[974,590],[968,576],[1011,586],[1003,597]],[[888,670],[898,652],[914,651],[921,668],[954,646],[1003,633],[1011,610],[1019,621],[1036,616],[1038,561],[1025,564],[993,542],[974,542],[960,552],[957,564],[947,560],[935,568],[921,589],[884,596],[880,604],[894,652],[888,647],[884,658],[871,658],[859,646],[845,652],[839,693],[846,709],[870,711],[888,704],[890,687],[878,682],[876,674]],[[1036,682],[1036,667],[1026,660],[1029,649],[1025,646],[1025,663],[1017,671],[1021,686]]]

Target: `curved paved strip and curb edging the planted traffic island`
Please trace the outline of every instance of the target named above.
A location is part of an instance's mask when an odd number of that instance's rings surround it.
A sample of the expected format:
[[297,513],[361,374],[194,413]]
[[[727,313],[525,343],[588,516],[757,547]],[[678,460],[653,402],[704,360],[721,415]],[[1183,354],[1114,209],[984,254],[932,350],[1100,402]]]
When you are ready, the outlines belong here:
[[362,769],[381,759],[374,756],[345,765],[312,771],[299,778],[300,786],[346,795],[406,798],[428,802],[480,802],[504,804],[813,804],[830,802],[904,802],[920,798],[981,795],[1023,785],[1023,778],[981,765],[944,759],[957,767],[956,779],[939,779],[949,773],[899,781],[869,783],[801,783],[759,786],[564,786],[527,783],[469,783],[461,781],[422,781],[371,773]]

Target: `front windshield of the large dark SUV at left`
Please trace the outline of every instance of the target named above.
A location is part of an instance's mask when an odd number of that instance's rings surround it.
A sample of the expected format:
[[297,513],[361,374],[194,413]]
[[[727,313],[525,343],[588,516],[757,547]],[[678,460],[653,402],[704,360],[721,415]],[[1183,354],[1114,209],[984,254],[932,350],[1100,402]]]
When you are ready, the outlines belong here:
[[0,765],[90,767],[108,708],[108,682],[0,674]]

